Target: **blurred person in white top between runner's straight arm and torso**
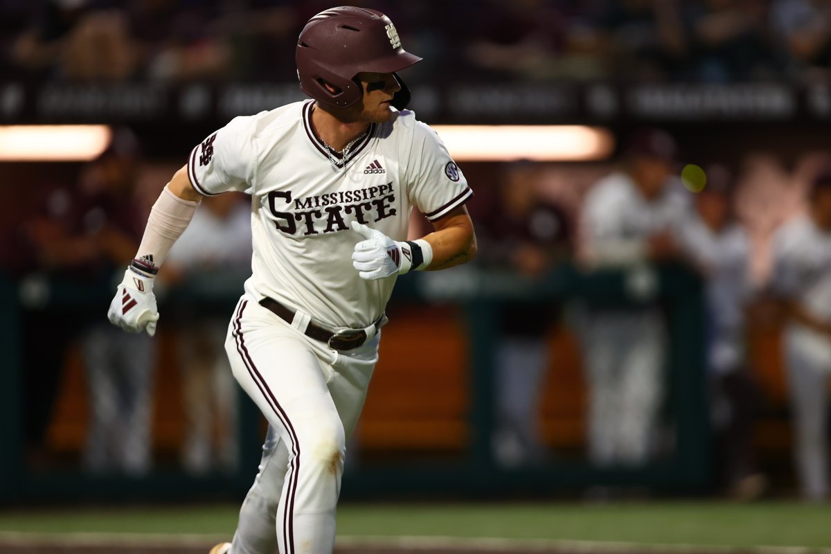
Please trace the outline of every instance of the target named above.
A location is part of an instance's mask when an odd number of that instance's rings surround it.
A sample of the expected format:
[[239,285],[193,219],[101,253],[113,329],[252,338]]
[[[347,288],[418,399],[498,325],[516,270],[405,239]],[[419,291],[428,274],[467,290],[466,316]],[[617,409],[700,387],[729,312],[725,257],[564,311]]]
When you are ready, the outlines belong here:
[[[165,263],[163,277],[185,289],[210,283],[241,288],[251,274],[251,208],[237,194],[206,198]],[[227,290],[227,287],[226,289]],[[187,422],[182,450],[190,473],[238,463],[238,387],[222,347],[227,313],[193,302],[175,314]]]

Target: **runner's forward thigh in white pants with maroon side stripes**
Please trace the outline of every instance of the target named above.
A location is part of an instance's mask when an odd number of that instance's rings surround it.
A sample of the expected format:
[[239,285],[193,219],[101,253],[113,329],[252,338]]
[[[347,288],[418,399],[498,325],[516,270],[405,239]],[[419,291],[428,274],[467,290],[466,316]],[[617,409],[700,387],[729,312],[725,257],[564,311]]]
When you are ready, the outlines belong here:
[[253,307],[240,302],[225,341],[239,385],[289,446],[309,439],[342,444],[326,365],[293,329]]

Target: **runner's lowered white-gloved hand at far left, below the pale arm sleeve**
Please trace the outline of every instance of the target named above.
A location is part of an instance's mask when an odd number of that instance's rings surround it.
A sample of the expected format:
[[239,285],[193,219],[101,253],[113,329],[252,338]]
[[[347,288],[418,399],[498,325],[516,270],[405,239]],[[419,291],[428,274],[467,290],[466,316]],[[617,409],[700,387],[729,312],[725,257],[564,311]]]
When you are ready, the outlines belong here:
[[107,312],[110,322],[131,333],[147,331],[155,335],[159,311],[153,294],[153,277],[127,267],[124,280],[116,289],[116,297]]

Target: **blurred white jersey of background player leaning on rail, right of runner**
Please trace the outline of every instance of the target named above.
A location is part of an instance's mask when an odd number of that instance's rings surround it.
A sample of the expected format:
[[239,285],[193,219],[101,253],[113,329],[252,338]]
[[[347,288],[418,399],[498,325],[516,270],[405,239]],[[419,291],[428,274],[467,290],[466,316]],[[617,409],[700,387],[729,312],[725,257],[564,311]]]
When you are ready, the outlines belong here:
[[581,239],[594,262],[633,262],[643,257],[654,233],[677,229],[688,202],[666,186],[654,200],[644,198],[629,175],[607,175],[588,192],[581,217]]

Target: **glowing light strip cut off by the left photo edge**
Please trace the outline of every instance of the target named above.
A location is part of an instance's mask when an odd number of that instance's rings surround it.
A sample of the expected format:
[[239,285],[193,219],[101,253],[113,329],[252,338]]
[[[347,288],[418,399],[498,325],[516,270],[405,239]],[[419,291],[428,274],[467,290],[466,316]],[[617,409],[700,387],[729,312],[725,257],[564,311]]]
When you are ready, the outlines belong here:
[[89,161],[111,138],[107,125],[0,125],[0,161]]

